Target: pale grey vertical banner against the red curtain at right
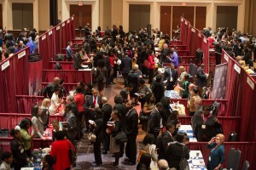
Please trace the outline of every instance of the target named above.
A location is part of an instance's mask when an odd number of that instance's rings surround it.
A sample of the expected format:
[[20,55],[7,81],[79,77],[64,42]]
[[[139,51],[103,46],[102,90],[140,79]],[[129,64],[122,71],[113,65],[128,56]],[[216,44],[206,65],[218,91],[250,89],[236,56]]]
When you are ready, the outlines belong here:
[[228,64],[216,65],[212,99],[225,99]]

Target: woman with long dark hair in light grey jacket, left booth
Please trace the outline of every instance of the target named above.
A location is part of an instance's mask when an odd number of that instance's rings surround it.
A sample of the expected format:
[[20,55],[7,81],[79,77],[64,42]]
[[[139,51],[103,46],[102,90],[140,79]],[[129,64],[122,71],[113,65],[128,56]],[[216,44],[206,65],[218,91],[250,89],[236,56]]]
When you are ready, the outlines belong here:
[[35,138],[43,138],[44,135],[44,122],[41,118],[41,108],[39,105],[34,105],[32,107],[32,125],[33,130],[32,134],[35,133],[34,129],[37,129],[37,134],[35,135]]

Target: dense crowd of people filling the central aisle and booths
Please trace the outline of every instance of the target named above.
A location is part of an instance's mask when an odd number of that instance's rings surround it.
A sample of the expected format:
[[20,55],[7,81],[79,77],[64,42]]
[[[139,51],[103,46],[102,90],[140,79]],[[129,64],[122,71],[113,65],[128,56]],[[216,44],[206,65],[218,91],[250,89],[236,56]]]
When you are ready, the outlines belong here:
[[[181,159],[189,159],[189,147],[186,145],[189,143],[189,137],[186,133],[178,132],[181,126],[179,113],[173,110],[170,99],[164,94],[165,90],[178,87],[180,97],[188,99],[187,107],[189,116],[192,116],[191,124],[196,139],[208,142],[207,148],[212,149],[207,169],[220,169],[224,163],[224,135],[219,133],[221,125],[216,115],[212,114],[211,106],[202,105],[208,77],[204,72],[205,65],[201,64],[196,71],[195,81],[183,66],[179,66],[177,71],[177,50],[169,48],[170,38],[168,35],[160,36],[157,29],[153,32],[141,29],[125,34],[122,26],[119,26],[119,29],[113,26],[112,30],[105,31],[105,36],[97,47],[97,38],[101,35],[100,28],[91,35],[89,25],[87,27],[84,29],[85,41],[82,46],[76,47],[75,54],[73,42],[68,42],[67,60],[73,60],[73,67],[77,70],[83,67],[83,60],[95,68],[96,86],[88,82],[78,82],[75,90],[67,92],[63,88],[64,82],[55,77],[54,81],[42,90],[45,98],[42,105],[33,106],[32,118],[23,119],[19,126],[11,130],[14,137],[11,144],[12,153],[3,154],[1,166],[8,169],[12,163],[15,169],[20,169],[29,163],[32,139],[45,139],[44,130],[51,123],[54,127],[54,142],[51,144],[49,156],[44,157],[45,169],[74,167],[75,162],[70,160],[68,153],[70,149],[77,151],[77,141],[82,139],[84,133],[96,137],[90,141],[94,146],[96,167],[102,166],[102,154],[113,154],[113,167],[119,166],[119,158],[125,154],[126,158],[122,163],[131,166],[138,162],[137,169],[140,170],[169,167],[180,169]],[[244,54],[242,59],[246,59],[250,65],[253,49],[247,35],[239,37],[234,31],[234,39],[230,42],[230,37],[222,29],[218,31],[219,41],[216,41],[211,30],[205,31],[209,41],[216,45],[216,55],[219,48],[224,48],[230,54],[233,51],[234,56]],[[31,30],[28,35],[33,35],[32,32]],[[153,37],[148,36],[150,34],[153,34]],[[24,33],[20,36],[24,42],[35,41],[36,37],[26,35]],[[6,41],[6,44],[12,42],[8,42],[9,38],[6,38]],[[155,43],[159,45],[160,54],[155,53]],[[34,48],[30,47],[33,52]],[[169,63],[169,66],[159,71],[162,63]],[[118,75],[124,78],[124,88],[114,96],[114,105],[110,105],[104,89],[116,83],[114,78]],[[63,96],[67,97],[66,101]],[[140,105],[139,113],[137,105]],[[66,124],[57,120],[49,122],[49,116],[57,112],[64,113]],[[139,153],[138,123],[142,124],[143,131],[147,133],[143,139],[143,149]],[[32,134],[28,130],[30,127]],[[120,142],[120,136],[125,141]]]

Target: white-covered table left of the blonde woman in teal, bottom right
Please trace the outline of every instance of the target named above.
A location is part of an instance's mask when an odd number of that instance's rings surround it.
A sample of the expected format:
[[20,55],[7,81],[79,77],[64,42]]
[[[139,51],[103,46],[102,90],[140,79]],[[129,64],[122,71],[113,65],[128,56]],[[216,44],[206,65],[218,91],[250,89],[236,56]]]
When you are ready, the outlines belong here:
[[207,169],[201,150],[190,150],[188,163],[191,170]]

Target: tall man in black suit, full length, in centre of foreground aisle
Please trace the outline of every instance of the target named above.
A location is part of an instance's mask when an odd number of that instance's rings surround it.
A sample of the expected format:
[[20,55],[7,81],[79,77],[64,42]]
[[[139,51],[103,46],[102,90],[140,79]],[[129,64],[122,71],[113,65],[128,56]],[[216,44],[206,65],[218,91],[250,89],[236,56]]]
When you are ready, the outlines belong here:
[[135,165],[137,156],[137,144],[136,138],[138,133],[137,122],[138,116],[137,111],[133,107],[132,101],[129,100],[126,104],[127,113],[125,115],[125,133],[127,135],[127,144],[125,147],[125,155],[127,158],[124,161],[125,165]]

